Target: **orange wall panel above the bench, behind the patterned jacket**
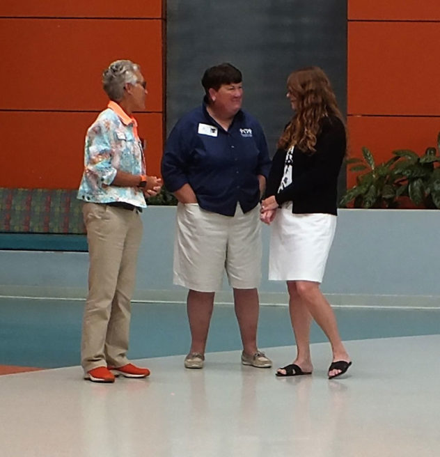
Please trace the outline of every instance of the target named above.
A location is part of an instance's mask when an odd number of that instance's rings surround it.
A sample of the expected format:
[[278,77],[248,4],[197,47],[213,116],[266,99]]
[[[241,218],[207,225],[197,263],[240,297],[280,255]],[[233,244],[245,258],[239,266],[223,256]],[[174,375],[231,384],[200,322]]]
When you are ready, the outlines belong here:
[[[84,167],[84,137],[96,117],[97,113],[0,112],[0,187],[76,189]],[[159,175],[162,114],[135,117],[139,135],[148,143],[148,173]]]

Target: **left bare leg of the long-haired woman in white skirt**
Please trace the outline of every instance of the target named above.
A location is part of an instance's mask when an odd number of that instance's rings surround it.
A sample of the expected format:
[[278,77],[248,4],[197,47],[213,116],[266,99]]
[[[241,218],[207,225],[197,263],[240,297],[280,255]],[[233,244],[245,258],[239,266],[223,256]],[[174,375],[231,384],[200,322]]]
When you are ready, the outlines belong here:
[[[297,364],[302,371],[313,371],[310,353],[310,326],[312,323],[311,313],[308,311],[307,304],[304,303],[297,292],[295,281],[287,281],[289,292],[289,313],[292,328],[297,342],[297,358],[293,363]],[[279,369],[280,373],[285,374],[285,370]]]

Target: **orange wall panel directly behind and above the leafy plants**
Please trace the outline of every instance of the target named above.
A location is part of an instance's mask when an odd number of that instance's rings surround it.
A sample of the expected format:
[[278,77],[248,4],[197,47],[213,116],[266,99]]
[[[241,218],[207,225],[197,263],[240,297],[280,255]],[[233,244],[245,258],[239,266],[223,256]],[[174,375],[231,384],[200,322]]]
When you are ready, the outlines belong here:
[[[396,149],[411,149],[418,155],[427,147],[437,147],[440,118],[348,116],[349,157],[362,157],[361,148],[371,150],[376,163],[393,157]],[[355,175],[347,171],[347,187]]]

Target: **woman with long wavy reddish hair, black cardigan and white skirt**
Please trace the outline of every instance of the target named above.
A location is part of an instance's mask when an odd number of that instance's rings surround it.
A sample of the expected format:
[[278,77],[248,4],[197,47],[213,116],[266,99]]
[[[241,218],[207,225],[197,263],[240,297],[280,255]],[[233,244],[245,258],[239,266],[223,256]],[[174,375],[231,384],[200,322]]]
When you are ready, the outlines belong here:
[[337,183],[346,132],[327,75],[318,67],[292,72],[287,98],[294,115],[278,140],[262,201],[262,222],[272,224],[269,279],[287,281],[297,357],[277,376],[311,374],[312,319],[331,343],[329,378],[352,364],[336,317],[320,291],[336,229]]

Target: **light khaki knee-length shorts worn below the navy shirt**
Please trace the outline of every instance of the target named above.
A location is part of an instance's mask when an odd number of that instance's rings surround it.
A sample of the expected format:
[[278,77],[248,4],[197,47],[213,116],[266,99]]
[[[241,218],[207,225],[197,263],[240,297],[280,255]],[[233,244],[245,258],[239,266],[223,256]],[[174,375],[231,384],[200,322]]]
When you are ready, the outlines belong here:
[[233,288],[251,289],[261,279],[261,226],[258,206],[233,217],[179,203],[174,242],[173,282],[193,291],[221,289],[226,269]]

